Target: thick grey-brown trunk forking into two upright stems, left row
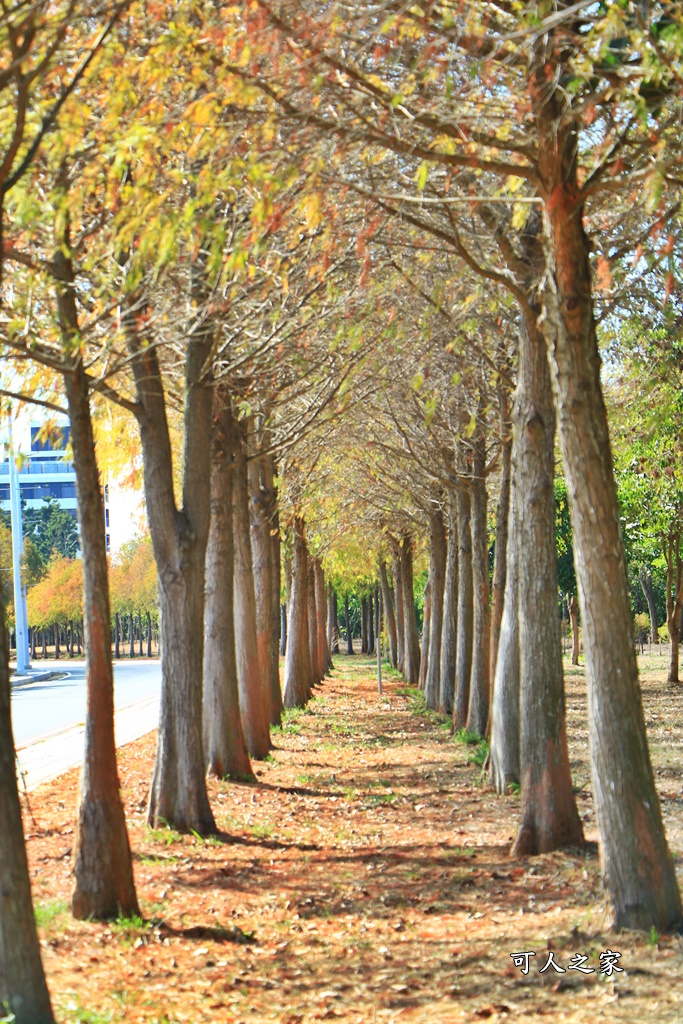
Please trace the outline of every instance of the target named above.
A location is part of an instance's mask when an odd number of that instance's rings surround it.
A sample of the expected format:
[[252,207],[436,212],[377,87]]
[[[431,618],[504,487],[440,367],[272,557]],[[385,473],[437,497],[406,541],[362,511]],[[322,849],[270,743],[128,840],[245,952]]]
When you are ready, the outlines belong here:
[[[201,268],[201,259],[198,264]],[[202,271],[193,292],[204,308]],[[204,561],[211,496],[212,402],[205,380],[213,348],[210,318],[184,339],[185,380],[182,508],[175,504],[173,461],[158,349],[144,331],[143,299],[130,298],[124,314],[135,379],[147,521],[159,573],[162,691],[148,822],[200,835],[216,830],[206,788],[204,699]]]

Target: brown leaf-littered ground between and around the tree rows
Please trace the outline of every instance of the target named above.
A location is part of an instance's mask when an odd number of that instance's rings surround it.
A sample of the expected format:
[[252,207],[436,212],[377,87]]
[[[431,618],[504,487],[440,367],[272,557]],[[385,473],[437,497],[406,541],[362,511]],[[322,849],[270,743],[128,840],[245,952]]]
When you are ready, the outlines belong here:
[[[500,799],[434,716],[372,666],[333,679],[274,734],[256,784],[210,782],[220,840],[151,831],[154,735],[120,765],[144,921],[71,920],[77,772],[31,797],[28,848],[60,1021],[678,1021],[680,937],[608,929],[597,854],[508,855],[518,798]],[[652,671],[656,663],[656,672]],[[683,692],[643,659],[653,760],[683,853]],[[574,781],[590,799],[583,669],[568,670]],[[613,978],[540,974],[548,955],[622,953]],[[510,953],[533,950],[526,977]]]

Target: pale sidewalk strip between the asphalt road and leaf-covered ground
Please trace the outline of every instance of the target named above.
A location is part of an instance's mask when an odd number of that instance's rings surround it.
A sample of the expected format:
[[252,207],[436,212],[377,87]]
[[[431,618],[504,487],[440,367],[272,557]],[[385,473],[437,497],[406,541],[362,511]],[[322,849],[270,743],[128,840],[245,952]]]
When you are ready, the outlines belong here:
[[[121,708],[115,713],[114,721],[117,746],[132,742],[159,725],[159,697],[143,697]],[[23,790],[26,783],[27,790],[35,790],[42,782],[80,765],[84,736],[85,723],[79,722],[17,746],[18,771],[24,776],[24,780],[19,777],[19,788]]]

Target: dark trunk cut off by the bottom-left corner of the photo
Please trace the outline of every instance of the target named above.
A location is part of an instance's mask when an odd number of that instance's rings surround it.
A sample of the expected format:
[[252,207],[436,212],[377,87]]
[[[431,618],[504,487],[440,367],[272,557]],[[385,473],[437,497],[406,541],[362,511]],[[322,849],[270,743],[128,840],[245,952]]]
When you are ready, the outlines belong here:
[[[103,518],[102,518],[103,522]],[[9,707],[9,643],[0,605],[0,1010],[15,1024],[54,1024],[31,899],[16,788],[14,737]]]

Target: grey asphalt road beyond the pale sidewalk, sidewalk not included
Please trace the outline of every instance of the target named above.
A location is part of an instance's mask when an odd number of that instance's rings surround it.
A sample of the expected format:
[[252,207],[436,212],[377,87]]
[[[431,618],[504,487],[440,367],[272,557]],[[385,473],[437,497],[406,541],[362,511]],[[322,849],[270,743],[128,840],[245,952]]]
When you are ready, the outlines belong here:
[[[77,725],[85,719],[85,665],[83,662],[34,662],[42,671],[66,673],[63,679],[24,683],[11,691],[12,729],[17,746]],[[150,662],[118,662],[114,668],[114,703],[117,709],[159,696],[161,669],[157,658]]]

